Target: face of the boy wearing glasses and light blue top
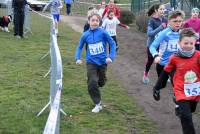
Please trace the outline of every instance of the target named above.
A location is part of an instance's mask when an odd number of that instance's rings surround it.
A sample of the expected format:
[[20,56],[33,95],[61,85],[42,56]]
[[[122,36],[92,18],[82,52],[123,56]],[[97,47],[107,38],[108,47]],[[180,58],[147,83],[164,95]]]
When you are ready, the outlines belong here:
[[178,31],[183,24],[183,18],[181,16],[178,16],[176,18],[170,19],[168,22],[174,31]]

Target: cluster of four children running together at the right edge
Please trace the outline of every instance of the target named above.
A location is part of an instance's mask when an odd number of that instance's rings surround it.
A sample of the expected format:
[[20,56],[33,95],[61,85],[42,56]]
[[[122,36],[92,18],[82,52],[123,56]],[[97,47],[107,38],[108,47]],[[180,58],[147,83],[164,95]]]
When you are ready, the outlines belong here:
[[183,134],[195,134],[192,113],[200,100],[200,10],[193,8],[191,18],[184,21],[183,11],[169,13],[166,21],[163,5],[148,10],[147,64],[142,81],[149,83],[149,70],[154,62],[158,80],[153,97],[160,100],[160,89],[170,77],[175,102],[175,113],[180,118]]

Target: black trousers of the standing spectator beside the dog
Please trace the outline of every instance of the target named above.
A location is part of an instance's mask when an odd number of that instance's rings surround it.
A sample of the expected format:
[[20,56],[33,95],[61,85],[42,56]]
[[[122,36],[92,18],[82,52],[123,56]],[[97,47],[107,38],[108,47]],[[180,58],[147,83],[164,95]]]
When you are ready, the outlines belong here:
[[14,35],[23,37],[24,12],[14,12]]

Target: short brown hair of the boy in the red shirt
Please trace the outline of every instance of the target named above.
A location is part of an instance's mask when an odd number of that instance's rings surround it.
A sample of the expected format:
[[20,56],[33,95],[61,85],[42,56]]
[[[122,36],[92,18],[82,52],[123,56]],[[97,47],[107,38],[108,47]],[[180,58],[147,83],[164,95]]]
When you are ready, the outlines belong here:
[[184,37],[194,37],[197,38],[196,33],[192,28],[184,28],[180,32],[179,41],[181,41]]

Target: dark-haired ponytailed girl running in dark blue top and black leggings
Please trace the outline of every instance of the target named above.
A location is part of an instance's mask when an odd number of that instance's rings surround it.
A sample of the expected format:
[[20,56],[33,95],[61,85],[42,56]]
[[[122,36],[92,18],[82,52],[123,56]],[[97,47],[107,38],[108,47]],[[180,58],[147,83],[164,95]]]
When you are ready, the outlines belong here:
[[151,43],[154,41],[155,36],[167,27],[167,19],[163,16],[165,11],[165,6],[161,4],[155,4],[149,8],[147,14],[150,17],[147,27],[147,62],[145,66],[144,75],[142,81],[144,84],[149,83],[149,70],[154,61],[149,48]]

